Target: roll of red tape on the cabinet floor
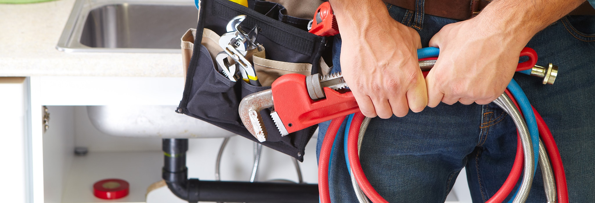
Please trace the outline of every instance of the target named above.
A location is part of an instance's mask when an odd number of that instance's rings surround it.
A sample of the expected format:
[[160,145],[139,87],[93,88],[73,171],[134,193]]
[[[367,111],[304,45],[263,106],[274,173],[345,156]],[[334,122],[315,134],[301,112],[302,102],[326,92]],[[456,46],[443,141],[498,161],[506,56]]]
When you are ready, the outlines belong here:
[[104,179],[93,184],[93,194],[101,199],[118,199],[128,195],[130,185],[122,179]]

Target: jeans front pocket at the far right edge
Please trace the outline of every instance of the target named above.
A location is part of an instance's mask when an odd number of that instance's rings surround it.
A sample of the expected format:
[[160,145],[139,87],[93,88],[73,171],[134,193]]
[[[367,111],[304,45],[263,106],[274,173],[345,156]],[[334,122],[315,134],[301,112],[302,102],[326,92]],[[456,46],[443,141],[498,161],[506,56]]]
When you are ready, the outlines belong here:
[[595,15],[568,15],[560,21],[574,38],[595,42]]

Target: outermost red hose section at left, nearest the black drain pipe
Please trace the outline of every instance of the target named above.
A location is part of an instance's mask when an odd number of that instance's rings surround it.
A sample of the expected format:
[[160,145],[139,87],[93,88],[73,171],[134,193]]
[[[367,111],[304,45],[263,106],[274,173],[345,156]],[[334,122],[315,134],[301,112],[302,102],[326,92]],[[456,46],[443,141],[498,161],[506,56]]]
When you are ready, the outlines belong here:
[[322,140],[320,158],[318,158],[318,192],[320,192],[321,203],[331,203],[331,195],[328,191],[328,160],[331,158],[334,138],[337,136],[343,120],[345,120],[345,116],[333,119],[324,135],[324,140]]

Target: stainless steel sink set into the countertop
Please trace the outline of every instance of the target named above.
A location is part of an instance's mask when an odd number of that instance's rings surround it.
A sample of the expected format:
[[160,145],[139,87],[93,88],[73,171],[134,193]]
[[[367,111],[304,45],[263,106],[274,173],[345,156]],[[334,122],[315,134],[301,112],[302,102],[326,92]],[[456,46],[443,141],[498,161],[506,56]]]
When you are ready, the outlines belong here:
[[56,48],[180,53],[180,38],[197,17],[192,0],[77,0]]

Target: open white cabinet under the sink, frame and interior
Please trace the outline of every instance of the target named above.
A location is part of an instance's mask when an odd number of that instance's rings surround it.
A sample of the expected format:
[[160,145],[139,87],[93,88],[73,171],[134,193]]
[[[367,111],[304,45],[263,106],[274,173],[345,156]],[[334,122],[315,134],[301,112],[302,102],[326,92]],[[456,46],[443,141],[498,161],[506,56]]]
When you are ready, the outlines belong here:
[[[28,81],[27,81],[28,80]],[[22,200],[11,202],[92,203],[145,202],[146,188],[161,180],[161,139],[124,138],[105,135],[95,129],[86,113],[87,105],[171,105],[179,104],[183,79],[179,77],[30,77],[23,80],[19,101],[25,127],[21,129],[20,156],[24,173],[18,190]],[[27,83],[29,82],[29,83]],[[30,84],[30,85],[27,85]],[[2,88],[2,86],[0,86]],[[14,99],[12,99],[14,100]],[[29,101],[29,105],[27,104]],[[44,133],[43,107],[48,108],[48,130]],[[2,109],[2,108],[0,108]],[[173,112],[173,110],[172,110]],[[0,118],[5,118],[0,116]],[[17,122],[18,123],[18,122]],[[27,141],[28,140],[28,141]],[[214,180],[215,157],[222,138],[190,139],[187,154],[189,177]],[[306,147],[300,163],[306,183],[317,183],[315,140]],[[86,156],[74,155],[75,146],[86,146]],[[252,170],[252,141],[233,136],[221,163],[222,180],[248,181]],[[29,168],[27,171],[26,168]],[[0,167],[1,168],[1,167]],[[92,195],[92,184],[105,178],[121,178],[131,184],[126,198],[106,201]],[[259,180],[286,179],[297,182],[290,157],[264,148]],[[461,179],[461,177],[459,177]],[[447,199],[463,203],[468,192],[461,180]],[[23,192],[24,191],[24,192]],[[166,191],[167,192],[167,191]],[[461,201],[456,201],[456,197]],[[167,196],[167,195],[166,195]],[[170,198],[175,198],[170,195]]]

